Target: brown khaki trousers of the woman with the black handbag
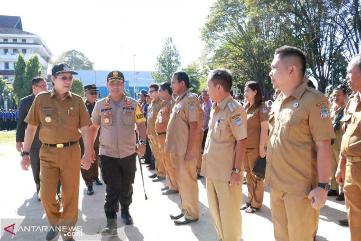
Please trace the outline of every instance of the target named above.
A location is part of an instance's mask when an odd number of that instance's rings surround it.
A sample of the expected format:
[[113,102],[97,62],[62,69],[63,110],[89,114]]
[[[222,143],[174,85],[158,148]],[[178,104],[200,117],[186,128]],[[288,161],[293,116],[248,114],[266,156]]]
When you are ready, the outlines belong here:
[[247,203],[252,207],[261,208],[263,202],[264,186],[263,180],[257,177],[257,191],[256,191],[256,175],[251,170],[255,166],[258,158],[260,157],[260,151],[258,148],[246,149],[244,155],[243,167],[246,172],[248,199]]

